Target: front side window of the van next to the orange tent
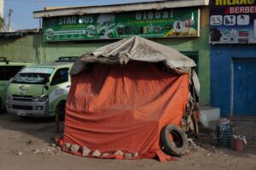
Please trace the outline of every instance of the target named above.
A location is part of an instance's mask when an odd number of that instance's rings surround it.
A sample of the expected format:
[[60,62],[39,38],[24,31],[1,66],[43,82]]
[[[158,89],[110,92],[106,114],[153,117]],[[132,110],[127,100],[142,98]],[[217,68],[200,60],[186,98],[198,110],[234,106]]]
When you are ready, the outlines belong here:
[[54,86],[56,84],[61,84],[62,82],[68,81],[68,68],[59,69],[55,72],[55,76],[53,77],[50,85]]

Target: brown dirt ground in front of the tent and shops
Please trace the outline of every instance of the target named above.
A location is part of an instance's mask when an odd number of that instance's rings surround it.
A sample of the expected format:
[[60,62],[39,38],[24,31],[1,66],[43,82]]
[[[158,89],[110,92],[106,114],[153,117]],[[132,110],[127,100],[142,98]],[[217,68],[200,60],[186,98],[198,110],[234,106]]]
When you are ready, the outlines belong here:
[[0,114],[0,170],[79,170],[79,169],[189,169],[189,170],[255,170],[256,122],[236,122],[236,133],[246,135],[242,152],[216,147],[212,130],[203,129],[189,152],[178,161],[160,162],[153,159],[102,160],[73,156],[55,150],[55,122],[47,119],[26,120],[18,116]]

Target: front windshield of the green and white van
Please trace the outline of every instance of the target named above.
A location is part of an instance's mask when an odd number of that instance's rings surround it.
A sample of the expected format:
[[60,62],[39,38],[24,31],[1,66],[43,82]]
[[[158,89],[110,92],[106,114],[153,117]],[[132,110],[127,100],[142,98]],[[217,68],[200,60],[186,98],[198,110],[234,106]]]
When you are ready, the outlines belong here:
[[12,83],[45,84],[49,82],[50,74],[20,72],[13,79]]

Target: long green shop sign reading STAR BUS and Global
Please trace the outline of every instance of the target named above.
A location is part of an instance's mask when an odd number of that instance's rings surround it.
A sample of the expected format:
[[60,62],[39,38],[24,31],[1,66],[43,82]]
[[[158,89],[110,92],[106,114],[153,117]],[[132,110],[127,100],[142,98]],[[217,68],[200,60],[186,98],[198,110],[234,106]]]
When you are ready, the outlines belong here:
[[198,8],[44,18],[44,42],[141,37],[199,37]]

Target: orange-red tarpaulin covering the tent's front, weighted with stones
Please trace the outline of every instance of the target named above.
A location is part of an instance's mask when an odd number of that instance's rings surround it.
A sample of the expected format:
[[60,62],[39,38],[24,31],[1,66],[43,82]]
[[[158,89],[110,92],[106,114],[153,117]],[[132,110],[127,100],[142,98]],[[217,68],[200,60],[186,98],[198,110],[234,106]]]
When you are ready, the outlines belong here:
[[96,63],[72,77],[61,143],[166,161],[160,130],[180,125],[188,98],[188,74],[160,71],[148,62]]

